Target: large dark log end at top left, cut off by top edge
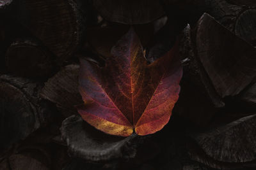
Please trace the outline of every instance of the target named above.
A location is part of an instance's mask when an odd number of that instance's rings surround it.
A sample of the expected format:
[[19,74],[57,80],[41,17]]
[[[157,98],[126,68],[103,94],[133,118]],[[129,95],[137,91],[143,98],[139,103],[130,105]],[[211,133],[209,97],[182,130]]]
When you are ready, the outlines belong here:
[[83,17],[76,1],[22,0],[16,8],[15,18],[56,55],[58,65],[77,50]]

